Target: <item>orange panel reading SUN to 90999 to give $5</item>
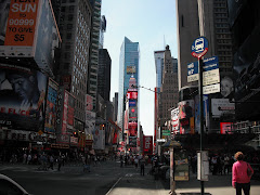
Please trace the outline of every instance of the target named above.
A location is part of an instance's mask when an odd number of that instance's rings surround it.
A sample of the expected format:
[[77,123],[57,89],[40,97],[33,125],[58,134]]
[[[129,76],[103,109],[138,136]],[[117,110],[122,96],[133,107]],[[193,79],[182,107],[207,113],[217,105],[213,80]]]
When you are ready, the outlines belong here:
[[[5,1],[5,3],[8,3],[8,1]],[[38,3],[38,0],[10,1],[4,46],[32,47],[37,24]]]

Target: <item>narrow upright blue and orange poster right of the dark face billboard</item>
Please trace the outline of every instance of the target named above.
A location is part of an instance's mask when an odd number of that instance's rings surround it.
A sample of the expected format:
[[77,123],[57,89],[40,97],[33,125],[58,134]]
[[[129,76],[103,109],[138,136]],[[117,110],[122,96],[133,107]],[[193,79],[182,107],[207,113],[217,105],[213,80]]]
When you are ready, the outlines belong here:
[[56,131],[57,90],[58,84],[50,78],[48,84],[46,125],[44,125],[46,131],[49,133],[54,133]]

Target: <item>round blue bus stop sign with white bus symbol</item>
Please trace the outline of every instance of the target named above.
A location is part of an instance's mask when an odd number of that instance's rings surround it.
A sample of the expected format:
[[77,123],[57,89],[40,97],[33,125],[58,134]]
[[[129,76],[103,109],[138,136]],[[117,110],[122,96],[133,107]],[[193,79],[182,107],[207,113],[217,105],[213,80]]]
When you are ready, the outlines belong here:
[[205,37],[198,37],[193,41],[192,55],[200,58],[208,52],[208,40]]

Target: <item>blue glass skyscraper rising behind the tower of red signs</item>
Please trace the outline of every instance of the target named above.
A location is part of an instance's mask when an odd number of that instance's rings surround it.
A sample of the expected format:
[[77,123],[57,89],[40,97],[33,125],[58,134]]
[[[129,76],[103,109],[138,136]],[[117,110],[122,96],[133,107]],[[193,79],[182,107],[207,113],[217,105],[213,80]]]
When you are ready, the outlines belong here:
[[139,86],[139,42],[132,42],[125,37],[120,49],[119,58],[119,91],[118,91],[118,126],[123,126],[123,112],[126,109],[125,102],[127,91],[129,89],[129,80],[135,78]]

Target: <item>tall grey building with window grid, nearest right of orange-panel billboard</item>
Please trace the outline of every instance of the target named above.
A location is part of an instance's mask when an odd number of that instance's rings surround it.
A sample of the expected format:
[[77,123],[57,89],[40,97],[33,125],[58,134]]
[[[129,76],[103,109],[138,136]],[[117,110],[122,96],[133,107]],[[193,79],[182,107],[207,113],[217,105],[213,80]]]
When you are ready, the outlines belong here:
[[57,80],[76,98],[75,123],[83,127],[92,8],[89,1],[62,1],[62,49]]

